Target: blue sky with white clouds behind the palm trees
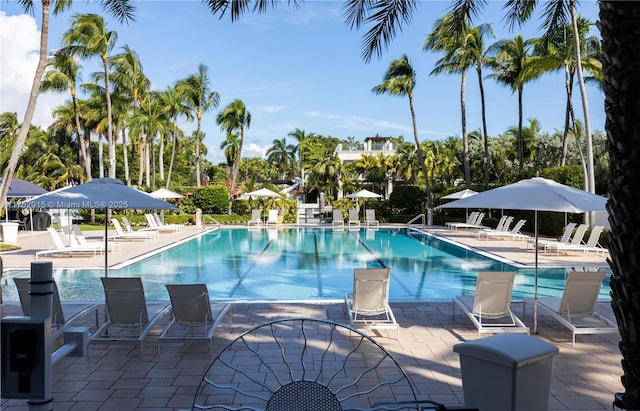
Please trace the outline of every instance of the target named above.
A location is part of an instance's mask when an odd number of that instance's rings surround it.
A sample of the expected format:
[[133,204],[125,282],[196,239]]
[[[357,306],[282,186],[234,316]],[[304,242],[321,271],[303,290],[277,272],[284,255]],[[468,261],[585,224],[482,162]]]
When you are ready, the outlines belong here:
[[[407,55],[416,71],[414,106],[421,141],[460,136],[460,75],[430,75],[441,55],[423,51],[424,41],[449,1],[423,1],[412,22],[406,24],[382,55],[369,63],[362,59],[362,39],[367,28],[350,29],[343,18],[343,1],[306,1],[295,9],[287,2],[274,11],[246,15],[235,22],[229,16],[211,15],[200,1],[141,0],[136,21],[121,24],[97,2],[76,0],[71,10],[52,15],[49,50],[60,47],[62,34],[72,16],[97,13],[107,20],[107,29],[118,33],[112,54],[128,45],[141,59],[154,90],[164,90],[176,81],[208,67],[212,89],[220,96],[217,108],[205,113],[203,131],[207,158],[224,161],[220,144],[225,138],[215,122],[217,114],[235,99],[251,113],[243,156],[263,157],[276,139],[286,138],[296,128],[346,140],[364,141],[371,136],[404,136],[413,141],[411,115],[406,97],[375,95],[371,89],[382,83],[393,60]],[[491,23],[495,41],[540,35],[540,21],[509,31],[503,20],[504,2],[489,1],[475,21]],[[583,0],[581,13],[591,21],[598,17],[595,0]],[[34,15],[24,14],[17,2],[0,2],[0,112],[17,112],[21,121],[40,42],[40,4]],[[599,36],[595,26],[590,35]],[[489,40],[488,42],[492,42]],[[83,61],[83,81],[101,70],[97,59]],[[486,79],[489,135],[496,136],[518,124],[517,94]],[[582,105],[575,88],[574,107],[582,119]],[[604,130],[604,95],[587,86],[591,126]],[[46,128],[51,110],[69,99],[66,93],[41,94],[33,123]],[[469,72],[466,87],[467,130],[480,130],[481,106],[475,72]],[[564,125],[565,92],[562,73],[548,74],[525,85],[524,117],[536,119],[543,132],[553,133]],[[196,124],[182,123],[191,134]]]

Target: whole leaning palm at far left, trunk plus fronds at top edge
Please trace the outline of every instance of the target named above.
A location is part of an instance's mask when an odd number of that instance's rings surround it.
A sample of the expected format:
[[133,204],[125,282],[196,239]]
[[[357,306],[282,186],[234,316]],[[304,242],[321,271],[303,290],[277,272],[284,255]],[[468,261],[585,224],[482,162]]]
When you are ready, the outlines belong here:
[[[54,14],[61,13],[67,10],[72,5],[71,0],[53,0],[53,2],[52,0],[41,0],[40,2],[42,6],[42,28],[40,30],[40,51],[38,64],[36,66],[36,72],[33,77],[31,92],[29,93],[29,102],[27,103],[27,108],[24,113],[24,119],[22,120],[20,132],[13,147],[13,151],[11,152],[11,158],[9,159],[7,168],[4,171],[4,178],[2,179],[2,183],[0,183],[0,204],[4,204],[7,198],[9,185],[11,184],[11,180],[13,179],[13,174],[15,173],[16,165],[18,164],[18,159],[24,147],[24,143],[27,139],[29,127],[36,110],[40,83],[42,81],[42,75],[44,74],[47,60],[47,49],[49,42],[49,9],[52,3]],[[19,4],[26,12],[33,12],[36,2],[34,0],[20,0]],[[133,12],[135,8],[129,2],[129,0],[103,1],[102,4],[113,16],[118,19],[118,21],[122,22],[133,20]]]

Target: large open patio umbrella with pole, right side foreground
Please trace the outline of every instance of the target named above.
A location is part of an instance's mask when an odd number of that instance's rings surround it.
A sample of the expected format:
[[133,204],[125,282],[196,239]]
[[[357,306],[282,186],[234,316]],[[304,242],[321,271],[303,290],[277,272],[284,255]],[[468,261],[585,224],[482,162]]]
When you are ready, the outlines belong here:
[[502,208],[534,211],[535,263],[533,332],[538,331],[538,211],[584,213],[605,209],[605,197],[565,186],[553,180],[534,177],[487,190],[437,208]]

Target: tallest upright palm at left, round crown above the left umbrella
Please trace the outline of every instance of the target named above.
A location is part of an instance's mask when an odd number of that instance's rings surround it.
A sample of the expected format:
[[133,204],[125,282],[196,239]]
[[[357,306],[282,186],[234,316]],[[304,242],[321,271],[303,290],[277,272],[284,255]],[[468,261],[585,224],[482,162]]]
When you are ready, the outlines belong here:
[[107,30],[107,23],[98,14],[76,14],[71,27],[63,36],[64,44],[82,58],[99,56],[104,71],[104,90],[107,103],[107,146],[109,149],[109,177],[116,176],[116,142],[113,133],[111,90],[109,85],[109,52],[118,39],[118,33]]

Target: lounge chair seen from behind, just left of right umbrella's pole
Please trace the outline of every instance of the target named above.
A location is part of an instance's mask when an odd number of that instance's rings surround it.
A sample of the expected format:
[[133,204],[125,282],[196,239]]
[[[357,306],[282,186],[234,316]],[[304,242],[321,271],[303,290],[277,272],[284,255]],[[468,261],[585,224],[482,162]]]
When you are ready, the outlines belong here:
[[475,296],[453,297],[456,306],[473,322],[480,334],[529,334],[529,327],[511,312],[514,271],[480,271]]

